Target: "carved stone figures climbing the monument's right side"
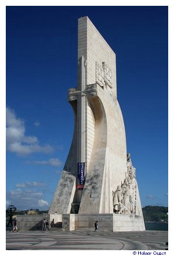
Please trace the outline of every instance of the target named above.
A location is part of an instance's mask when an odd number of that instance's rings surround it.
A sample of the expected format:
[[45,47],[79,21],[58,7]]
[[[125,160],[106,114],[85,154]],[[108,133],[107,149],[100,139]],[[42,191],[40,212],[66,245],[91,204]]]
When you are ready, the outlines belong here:
[[113,191],[113,207],[115,214],[135,214],[136,212],[136,169],[127,154],[127,172],[124,183]]

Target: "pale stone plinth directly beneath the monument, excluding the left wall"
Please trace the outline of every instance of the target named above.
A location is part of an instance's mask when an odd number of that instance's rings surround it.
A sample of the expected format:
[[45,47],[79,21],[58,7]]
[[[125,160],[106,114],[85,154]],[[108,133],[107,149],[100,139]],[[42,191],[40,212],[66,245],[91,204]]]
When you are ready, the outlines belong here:
[[63,214],[63,230],[95,230],[98,221],[101,231],[144,231],[144,220],[138,215],[123,214]]

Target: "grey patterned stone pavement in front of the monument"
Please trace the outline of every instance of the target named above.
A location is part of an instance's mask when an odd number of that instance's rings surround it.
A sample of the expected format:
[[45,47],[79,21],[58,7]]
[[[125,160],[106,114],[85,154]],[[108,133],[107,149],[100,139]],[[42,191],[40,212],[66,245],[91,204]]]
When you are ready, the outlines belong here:
[[6,231],[6,250],[165,250],[167,231]]

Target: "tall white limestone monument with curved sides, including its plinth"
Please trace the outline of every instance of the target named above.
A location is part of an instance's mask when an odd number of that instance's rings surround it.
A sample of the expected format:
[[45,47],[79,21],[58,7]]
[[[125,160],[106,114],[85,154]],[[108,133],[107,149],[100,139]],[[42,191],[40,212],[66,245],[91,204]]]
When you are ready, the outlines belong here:
[[78,84],[68,91],[74,136],[49,214],[63,229],[145,230],[136,170],[126,152],[115,53],[89,18],[78,19]]

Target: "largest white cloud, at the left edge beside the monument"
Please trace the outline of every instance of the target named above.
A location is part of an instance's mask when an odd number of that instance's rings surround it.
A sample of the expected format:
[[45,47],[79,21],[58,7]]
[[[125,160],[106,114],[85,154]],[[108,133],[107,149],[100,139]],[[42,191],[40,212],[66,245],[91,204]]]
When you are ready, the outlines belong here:
[[17,155],[29,155],[34,152],[48,154],[53,151],[50,145],[39,145],[38,138],[26,136],[24,121],[16,118],[12,109],[6,107],[6,149]]

